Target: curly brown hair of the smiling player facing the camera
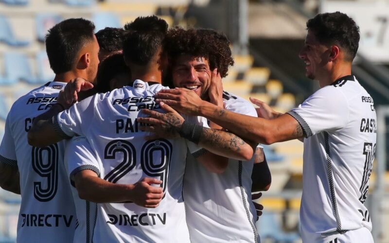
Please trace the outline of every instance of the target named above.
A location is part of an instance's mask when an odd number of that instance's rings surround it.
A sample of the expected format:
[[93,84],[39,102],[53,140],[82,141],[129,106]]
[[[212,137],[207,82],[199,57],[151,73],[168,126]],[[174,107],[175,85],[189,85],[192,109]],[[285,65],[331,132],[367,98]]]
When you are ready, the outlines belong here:
[[214,30],[176,27],[169,30],[164,48],[173,65],[180,55],[202,56],[208,59],[211,70],[217,68],[221,77],[226,77],[229,66],[234,64],[230,41]]

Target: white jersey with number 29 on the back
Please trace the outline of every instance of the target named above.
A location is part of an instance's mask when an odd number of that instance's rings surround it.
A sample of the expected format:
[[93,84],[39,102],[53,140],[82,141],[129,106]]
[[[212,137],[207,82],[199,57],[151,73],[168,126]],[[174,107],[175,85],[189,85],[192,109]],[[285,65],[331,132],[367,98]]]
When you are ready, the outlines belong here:
[[[145,140],[139,130],[142,108],[159,109],[154,95],[160,84],[136,80],[133,87],[96,94],[53,117],[63,136],[79,134],[88,139],[101,178],[134,184],[144,177],[162,180],[164,198],[157,208],[134,203],[99,204],[93,242],[189,242],[182,199],[182,181],[188,145],[185,139]],[[93,168],[94,167],[94,168]]]

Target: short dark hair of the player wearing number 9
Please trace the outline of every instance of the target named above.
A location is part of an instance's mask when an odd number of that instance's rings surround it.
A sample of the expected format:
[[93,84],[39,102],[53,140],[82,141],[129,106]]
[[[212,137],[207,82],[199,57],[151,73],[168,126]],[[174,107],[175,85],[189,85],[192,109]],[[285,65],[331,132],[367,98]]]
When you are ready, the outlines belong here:
[[70,71],[81,48],[93,41],[94,24],[84,18],[69,18],[46,35],[46,52],[55,74]]

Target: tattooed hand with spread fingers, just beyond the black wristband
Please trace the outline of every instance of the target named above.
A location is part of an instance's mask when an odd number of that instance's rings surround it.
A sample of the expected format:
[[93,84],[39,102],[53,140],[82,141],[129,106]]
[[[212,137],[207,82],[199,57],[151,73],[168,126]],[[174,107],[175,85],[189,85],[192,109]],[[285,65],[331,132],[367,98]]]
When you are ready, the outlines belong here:
[[163,102],[159,103],[160,107],[166,111],[166,113],[160,113],[155,110],[142,109],[143,114],[149,117],[139,117],[138,122],[149,125],[148,131],[156,131],[157,127],[167,133],[176,136],[177,130],[181,127],[185,121],[184,118],[172,107]]

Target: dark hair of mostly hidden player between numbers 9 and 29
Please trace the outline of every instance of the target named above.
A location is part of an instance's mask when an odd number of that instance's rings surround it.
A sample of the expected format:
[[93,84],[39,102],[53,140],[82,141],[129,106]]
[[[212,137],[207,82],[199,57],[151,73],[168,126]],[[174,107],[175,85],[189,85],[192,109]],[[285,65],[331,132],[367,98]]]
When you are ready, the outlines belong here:
[[96,33],[100,50],[116,52],[123,50],[124,29],[106,27]]

